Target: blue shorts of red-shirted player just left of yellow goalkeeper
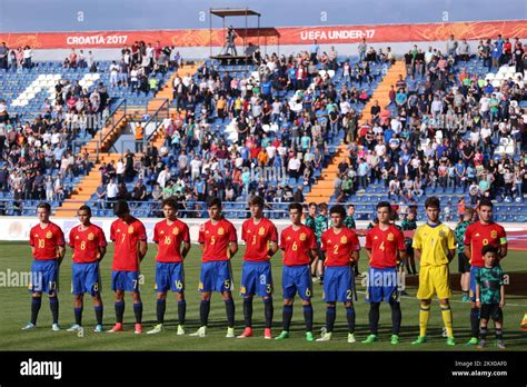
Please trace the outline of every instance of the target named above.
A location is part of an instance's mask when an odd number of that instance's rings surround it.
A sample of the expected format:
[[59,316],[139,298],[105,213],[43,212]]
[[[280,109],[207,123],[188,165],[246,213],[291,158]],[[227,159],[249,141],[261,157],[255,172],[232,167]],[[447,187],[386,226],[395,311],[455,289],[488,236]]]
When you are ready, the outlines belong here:
[[396,267],[385,269],[369,268],[366,301],[381,302],[385,300],[399,301],[399,274]]

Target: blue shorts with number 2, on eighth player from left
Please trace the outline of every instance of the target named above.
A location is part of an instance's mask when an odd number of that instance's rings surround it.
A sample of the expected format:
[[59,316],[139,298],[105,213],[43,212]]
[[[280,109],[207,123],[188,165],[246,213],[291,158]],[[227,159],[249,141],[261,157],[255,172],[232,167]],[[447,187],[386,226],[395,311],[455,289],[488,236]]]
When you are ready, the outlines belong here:
[[324,300],[326,302],[352,302],[355,275],[350,266],[327,266],[324,274]]

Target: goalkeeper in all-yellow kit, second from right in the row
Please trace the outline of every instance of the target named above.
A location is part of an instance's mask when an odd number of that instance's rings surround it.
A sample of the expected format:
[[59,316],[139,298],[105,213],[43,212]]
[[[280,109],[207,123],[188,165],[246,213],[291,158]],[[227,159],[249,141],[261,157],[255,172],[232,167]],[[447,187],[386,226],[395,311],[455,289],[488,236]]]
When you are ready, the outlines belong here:
[[420,299],[419,337],[412,344],[418,345],[427,340],[426,330],[430,317],[430,304],[434,294],[439,299],[443,321],[447,330],[447,345],[454,346],[453,312],[448,299],[451,296],[448,264],[456,252],[454,231],[439,221],[440,202],[436,197],[425,201],[428,220],[419,226],[414,235],[412,247],[417,258],[420,258],[419,289]]

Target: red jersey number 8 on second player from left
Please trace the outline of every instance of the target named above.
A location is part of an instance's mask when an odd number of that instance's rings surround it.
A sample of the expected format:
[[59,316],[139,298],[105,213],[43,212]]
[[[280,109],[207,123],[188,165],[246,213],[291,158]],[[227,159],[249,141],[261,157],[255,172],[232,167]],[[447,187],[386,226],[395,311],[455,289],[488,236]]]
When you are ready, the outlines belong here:
[[99,226],[90,225],[82,230],[82,225],[70,231],[69,245],[73,249],[73,262],[88,264],[99,260],[99,247],[106,247],[105,232]]

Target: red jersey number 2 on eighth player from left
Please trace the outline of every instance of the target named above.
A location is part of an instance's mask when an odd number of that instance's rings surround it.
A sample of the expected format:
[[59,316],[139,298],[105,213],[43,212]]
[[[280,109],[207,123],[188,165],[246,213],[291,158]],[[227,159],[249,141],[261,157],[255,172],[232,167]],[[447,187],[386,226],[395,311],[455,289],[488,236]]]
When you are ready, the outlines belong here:
[[332,228],[324,231],[320,248],[326,251],[325,266],[349,266],[351,252],[360,251],[359,238],[354,230],[342,227],[339,234]]

